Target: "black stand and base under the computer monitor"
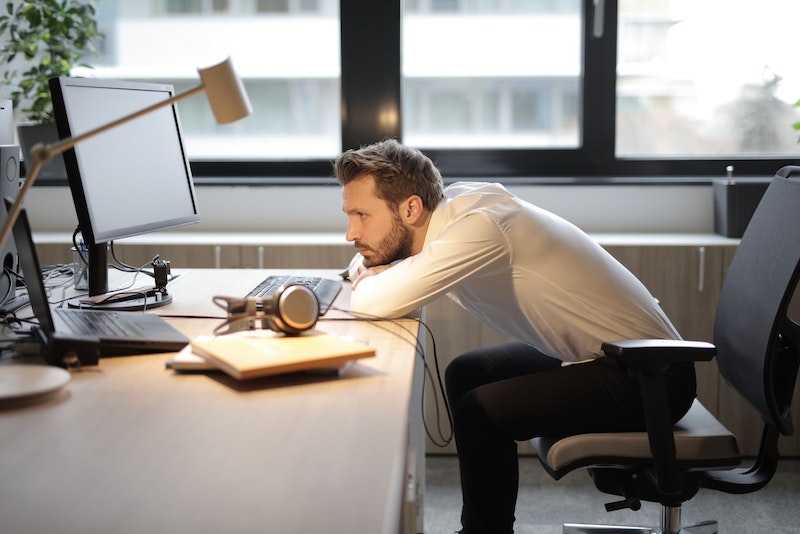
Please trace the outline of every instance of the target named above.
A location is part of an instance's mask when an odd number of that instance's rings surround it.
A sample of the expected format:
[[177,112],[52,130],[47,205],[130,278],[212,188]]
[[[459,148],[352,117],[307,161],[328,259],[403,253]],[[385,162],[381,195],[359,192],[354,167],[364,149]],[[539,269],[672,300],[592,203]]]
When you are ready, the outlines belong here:
[[[89,297],[76,297],[67,305],[83,310],[145,311],[160,308],[172,302],[172,295],[166,289],[155,287],[130,293],[108,293],[108,243],[98,243],[87,247],[89,250]],[[133,275],[132,275],[133,276]]]

